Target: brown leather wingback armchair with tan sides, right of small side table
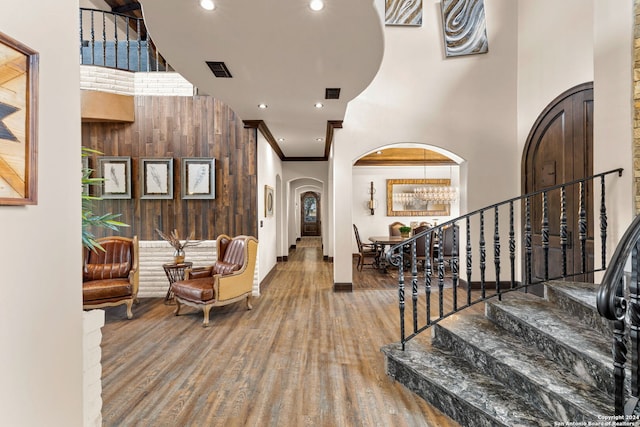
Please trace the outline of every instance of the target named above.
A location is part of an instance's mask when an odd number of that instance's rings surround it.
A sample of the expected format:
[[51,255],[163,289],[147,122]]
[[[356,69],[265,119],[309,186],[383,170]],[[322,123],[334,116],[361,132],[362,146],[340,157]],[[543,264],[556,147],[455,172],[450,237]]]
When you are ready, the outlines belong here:
[[187,270],[185,280],[171,285],[176,300],[175,315],[182,305],[204,312],[203,327],[209,326],[211,307],[246,299],[251,310],[253,274],[258,254],[258,240],[252,236],[231,238],[225,234],[216,239],[218,259],[209,267]]

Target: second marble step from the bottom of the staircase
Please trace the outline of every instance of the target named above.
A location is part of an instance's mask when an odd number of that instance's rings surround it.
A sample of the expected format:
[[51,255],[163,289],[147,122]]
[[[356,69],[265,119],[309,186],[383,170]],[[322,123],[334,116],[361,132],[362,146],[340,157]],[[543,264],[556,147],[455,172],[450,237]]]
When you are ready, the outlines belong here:
[[456,337],[451,349],[489,371],[486,374],[520,393],[529,394],[535,387],[537,403],[547,407],[546,412],[558,420],[575,420],[572,416],[567,418],[572,411],[592,420],[613,411],[607,394],[563,370],[534,345],[506,332],[484,315],[458,314],[440,322],[434,326],[434,345],[451,345],[447,335]]

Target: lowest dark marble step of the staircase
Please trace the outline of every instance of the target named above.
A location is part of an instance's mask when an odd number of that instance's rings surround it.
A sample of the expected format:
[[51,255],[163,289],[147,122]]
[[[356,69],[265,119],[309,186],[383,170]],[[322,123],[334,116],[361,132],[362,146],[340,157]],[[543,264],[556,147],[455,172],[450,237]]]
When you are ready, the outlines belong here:
[[[416,341],[407,343],[405,351],[397,344],[385,346],[382,351],[388,359],[409,369],[412,376],[420,379],[397,380],[402,380],[405,386],[463,425],[524,427],[550,426],[553,423],[525,398],[501,382],[478,372],[451,352],[433,346],[427,349]],[[420,387],[420,383],[427,383],[428,387]],[[420,390],[416,390],[416,387]],[[452,401],[464,407],[452,404]],[[482,415],[478,416],[477,413]],[[456,415],[467,417],[467,422]],[[474,417],[478,419],[473,420]]]

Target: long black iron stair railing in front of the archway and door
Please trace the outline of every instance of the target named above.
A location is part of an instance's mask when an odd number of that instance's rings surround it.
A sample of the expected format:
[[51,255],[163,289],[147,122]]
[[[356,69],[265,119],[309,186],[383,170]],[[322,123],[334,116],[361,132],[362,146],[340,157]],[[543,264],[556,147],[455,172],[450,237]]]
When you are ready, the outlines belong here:
[[[505,292],[511,292],[519,289],[528,291],[529,287],[537,283],[543,283],[547,280],[562,279],[574,277],[576,275],[584,275],[594,273],[596,271],[603,271],[607,268],[607,206],[606,206],[606,185],[605,178],[609,175],[617,174],[622,176],[622,169],[614,169],[607,172],[599,173],[587,178],[578,179],[575,181],[567,182],[560,185],[548,187],[539,191],[535,191],[529,194],[525,194],[519,197],[505,200],[503,202],[493,204],[482,209],[475,210],[466,215],[462,215],[458,218],[444,222],[432,228],[429,228],[419,234],[412,236],[411,238],[392,246],[386,253],[386,260],[392,266],[395,266],[398,270],[398,300],[400,309],[400,342],[402,349],[405,349],[406,343],[424,332],[434,324],[442,321],[443,319],[460,312],[475,304],[484,302],[490,298],[501,298]],[[587,244],[589,240],[588,230],[590,226],[594,224],[588,223],[587,215],[587,194],[592,192],[593,183],[600,181],[600,212],[599,212],[599,225],[600,225],[600,243],[601,243],[601,255],[600,268],[595,268],[595,261],[593,266],[589,266]],[[568,224],[569,215],[567,214],[567,197],[568,192],[574,194],[577,190],[579,195],[578,212],[577,212],[577,224]],[[541,220],[539,224],[532,224],[532,203],[540,203],[541,207]],[[560,218],[558,223],[558,229],[551,230],[549,218],[549,203],[553,201],[559,202]],[[502,208],[502,212],[501,212]],[[521,210],[522,226],[516,229],[516,211]],[[506,211],[506,213],[504,212]],[[508,215],[507,226],[501,226],[500,217]],[[492,236],[487,236],[485,230],[486,216],[493,216],[493,230],[489,233],[493,233]],[[567,250],[571,249],[573,239],[570,236],[570,225],[576,226],[579,231],[579,269],[575,272],[568,270]],[[457,227],[456,227],[457,226]],[[473,228],[477,226],[477,229]],[[445,258],[444,251],[438,250],[435,261],[432,261],[430,256],[425,257],[424,265],[420,275],[422,281],[422,287],[424,288],[424,301],[419,302],[419,275],[418,275],[418,259],[416,256],[417,241],[420,240],[421,244],[424,244],[424,253],[429,253],[430,240],[432,238],[437,239],[438,242],[443,242],[443,231],[445,228],[452,227],[452,239],[453,250],[450,256],[449,265],[451,269],[451,282],[452,282],[452,305],[451,307],[445,307],[443,299],[443,289],[445,287]],[[458,231],[458,229],[460,231]],[[476,230],[474,237],[477,236],[477,243],[472,239],[472,231]],[[522,231],[521,231],[522,230]],[[556,232],[559,235],[559,248],[554,247],[550,232]],[[540,235],[539,245],[541,247],[541,253],[534,256],[533,250],[533,237],[534,232]],[[464,255],[462,259],[465,261],[466,276],[462,278],[458,270],[461,254],[458,251],[458,246],[463,240],[461,237],[465,236]],[[516,238],[516,235],[519,238]],[[433,236],[433,237],[432,237]],[[487,249],[487,240],[493,241],[493,269],[491,269],[490,263],[487,262],[487,257],[491,255]],[[594,235],[595,239],[595,235]],[[517,267],[521,263],[516,262],[516,252],[518,249],[517,242],[521,241],[521,255],[523,258],[522,277],[521,281],[516,280]],[[424,243],[422,243],[424,242]],[[501,253],[502,243],[507,242],[508,255]],[[560,250],[561,252],[561,267],[558,273],[555,271],[552,273],[549,270],[549,256],[550,251]],[[477,266],[474,266],[474,250],[479,256],[479,262]],[[508,280],[502,281],[501,274],[503,273],[502,261],[508,259]],[[534,261],[542,262],[542,267],[537,268],[540,270],[540,274],[534,277]],[[435,265],[433,265],[435,264]],[[557,268],[555,265],[554,268]],[[434,268],[437,272],[437,287],[438,287],[438,299],[435,302],[437,307],[433,307],[434,301],[432,301],[432,273]],[[475,268],[475,270],[474,270]],[[411,313],[409,314],[412,323],[412,332],[406,333],[405,326],[405,271],[411,274]],[[492,274],[491,274],[492,273]],[[492,276],[489,280],[487,277]],[[480,296],[474,299],[472,295],[473,279],[478,278],[476,283],[479,285]],[[466,280],[465,280],[466,279]],[[458,306],[458,285],[466,282],[466,301],[463,305]],[[618,302],[618,300],[615,300]],[[424,305],[424,313],[418,311],[419,305]],[[640,307],[640,306],[639,306]],[[437,310],[437,311],[436,311]],[[619,310],[619,309],[618,309]],[[616,314],[618,314],[616,312]],[[640,309],[638,310],[638,316],[640,317]],[[640,322],[639,322],[640,324]]]

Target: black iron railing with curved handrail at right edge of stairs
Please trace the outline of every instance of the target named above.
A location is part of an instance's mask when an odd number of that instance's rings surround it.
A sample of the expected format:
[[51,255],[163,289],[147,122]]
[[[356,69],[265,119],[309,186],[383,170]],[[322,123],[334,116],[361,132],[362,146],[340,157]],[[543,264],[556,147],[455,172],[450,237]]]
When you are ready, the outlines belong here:
[[[640,370],[640,215],[627,228],[602,278],[596,297],[598,312],[613,321],[615,414],[637,420]],[[630,272],[625,266],[631,257]],[[626,331],[626,324],[629,324]],[[629,342],[629,345],[628,344]],[[627,353],[631,350],[630,390],[625,389]],[[623,418],[624,419],[624,418]],[[629,418],[627,418],[629,419]]]

